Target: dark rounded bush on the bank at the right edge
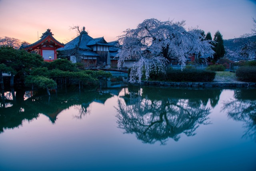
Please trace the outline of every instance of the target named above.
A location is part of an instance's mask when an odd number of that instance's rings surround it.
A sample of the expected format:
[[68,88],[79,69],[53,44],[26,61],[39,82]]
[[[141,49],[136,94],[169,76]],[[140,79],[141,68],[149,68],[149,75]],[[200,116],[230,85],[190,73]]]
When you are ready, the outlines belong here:
[[256,66],[241,66],[236,70],[238,80],[256,82]]

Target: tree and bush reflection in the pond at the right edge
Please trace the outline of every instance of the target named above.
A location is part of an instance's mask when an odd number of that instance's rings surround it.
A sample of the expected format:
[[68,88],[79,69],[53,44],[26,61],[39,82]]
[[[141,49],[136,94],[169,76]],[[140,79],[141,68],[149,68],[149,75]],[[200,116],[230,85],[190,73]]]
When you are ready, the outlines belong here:
[[227,110],[228,116],[235,121],[243,121],[243,137],[256,141],[256,89],[236,90],[234,97],[224,102],[222,111]]

